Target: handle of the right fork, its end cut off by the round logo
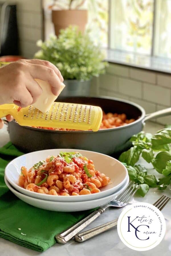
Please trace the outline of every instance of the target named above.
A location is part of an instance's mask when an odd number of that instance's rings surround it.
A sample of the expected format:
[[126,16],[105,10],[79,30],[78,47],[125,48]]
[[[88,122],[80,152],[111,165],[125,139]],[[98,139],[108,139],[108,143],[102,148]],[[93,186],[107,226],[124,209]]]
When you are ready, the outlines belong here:
[[77,234],[75,235],[75,240],[77,242],[84,242],[94,236],[97,236],[103,232],[105,232],[106,230],[109,230],[115,226],[117,226],[117,221],[118,221],[118,218],[115,219],[115,220],[112,220],[110,222],[107,222],[103,225],[100,225],[100,226],[97,226],[96,228],[92,228],[92,229],[89,229],[85,232],[82,232],[80,234]]

